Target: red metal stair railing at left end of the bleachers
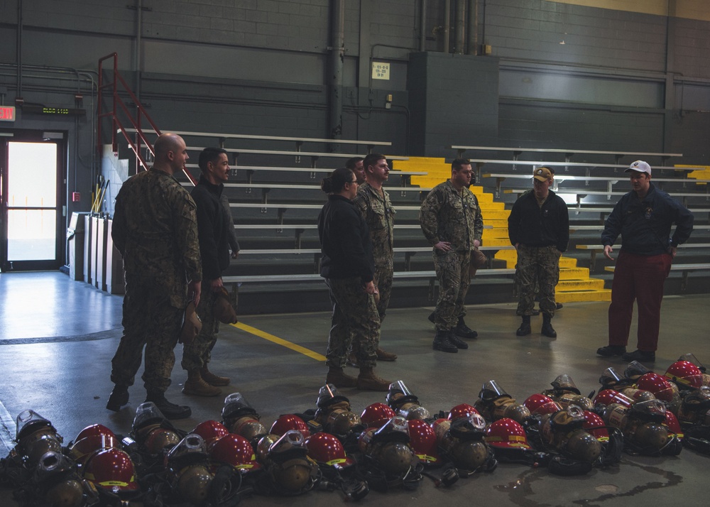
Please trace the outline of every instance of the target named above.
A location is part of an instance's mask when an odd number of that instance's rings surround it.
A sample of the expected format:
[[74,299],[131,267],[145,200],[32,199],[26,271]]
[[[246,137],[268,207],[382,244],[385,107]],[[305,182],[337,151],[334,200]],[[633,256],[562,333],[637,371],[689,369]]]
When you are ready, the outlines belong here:
[[[106,60],[113,60],[113,66],[109,68],[104,67],[104,62]],[[150,165],[143,158],[141,150],[143,146],[148,148],[151,155],[155,157],[155,151],[153,151],[153,144],[148,141],[146,137],[146,131],[143,131],[141,127],[142,121],[148,122],[148,135],[155,134],[160,136],[160,129],[155,125],[153,119],[148,114],[148,111],[143,107],[143,104],[138,101],[138,97],[133,94],[131,87],[126,83],[123,76],[119,72],[118,68],[119,55],[118,53],[111,53],[111,55],[104,56],[104,58],[99,59],[99,108],[98,108],[98,121],[97,121],[97,153],[99,158],[102,156],[102,124],[109,120],[111,122],[111,149],[114,153],[118,152],[118,141],[116,140],[116,134],[122,133],[126,141],[129,143],[129,148],[136,155],[136,171],[141,170],[141,166],[144,169],[148,169]],[[108,75],[104,77],[104,71]],[[131,106],[124,102],[121,94],[128,96],[135,104],[136,115],[135,117],[131,114]],[[104,98],[111,98],[110,110],[104,108]],[[119,116],[120,114],[120,116]],[[131,129],[129,132],[127,129]],[[133,130],[135,130],[135,137],[133,137]],[[187,175],[187,178],[192,182],[193,185],[197,183],[197,180],[190,174],[186,168],[182,168]]]

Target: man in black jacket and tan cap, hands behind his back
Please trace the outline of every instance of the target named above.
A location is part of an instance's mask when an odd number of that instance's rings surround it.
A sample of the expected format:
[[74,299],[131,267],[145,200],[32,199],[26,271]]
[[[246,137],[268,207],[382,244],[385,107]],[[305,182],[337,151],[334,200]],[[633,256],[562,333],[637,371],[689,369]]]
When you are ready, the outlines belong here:
[[557,337],[552,328],[555,316],[555,285],[559,280],[559,257],[569,243],[569,213],[562,197],[550,190],[552,173],[545,167],[533,171],[532,190],[520,195],[508,217],[510,243],[518,250],[518,315],[523,323],[515,332],[530,334],[530,315],[535,312],[535,287],[542,312],[541,333]]

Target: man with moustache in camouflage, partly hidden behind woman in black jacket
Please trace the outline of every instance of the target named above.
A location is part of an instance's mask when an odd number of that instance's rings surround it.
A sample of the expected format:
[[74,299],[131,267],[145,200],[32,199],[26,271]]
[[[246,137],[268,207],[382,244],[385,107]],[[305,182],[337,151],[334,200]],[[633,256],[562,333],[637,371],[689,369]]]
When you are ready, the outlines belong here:
[[[390,196],[382,185],[389,178],[390,168],[387,158],[379,153],[370,153],[363,162],[366,182],[360,185],[353,202],[360,210],[370,231],[372,254],[375,261],[375,277],[373,282],[379,293],[377,312],[380,322],[385,319],[387,306],[392,294],[393,266],[393,228],[395,210],[390,202]],[[354,351],[349,357],[351,364],[356,364],[358,342],[354,340]],[[395,361],[396,354],[377,349],[378,361]]]

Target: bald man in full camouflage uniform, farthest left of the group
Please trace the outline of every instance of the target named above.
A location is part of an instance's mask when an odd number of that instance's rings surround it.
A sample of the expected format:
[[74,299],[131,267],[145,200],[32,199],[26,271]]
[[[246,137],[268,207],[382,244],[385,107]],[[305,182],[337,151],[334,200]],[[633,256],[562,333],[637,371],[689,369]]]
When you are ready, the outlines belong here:
[[167,418],[190,417],[190,407],[165,399],[175,364],[187,302],[200,302],[200,247],[195,202],[175,179],[185,167],[185,141],[164,133],[155,141],[155,164],[124,182],[116,196],[111,238],[124,259],[124,335],[111,360],[116,384],[106,408],[118,411],[129,401],[129,386],[141,366],[152,401]]

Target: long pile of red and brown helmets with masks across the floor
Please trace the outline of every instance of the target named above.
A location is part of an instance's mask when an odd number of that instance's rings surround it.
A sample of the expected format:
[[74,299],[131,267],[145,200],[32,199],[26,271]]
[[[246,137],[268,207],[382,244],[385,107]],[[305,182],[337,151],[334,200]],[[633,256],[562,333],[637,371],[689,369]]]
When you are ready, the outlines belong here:
[[128,435],[94,424],[66,446],[49,420],[24,410],[0,482],[23,506],[230,507],[251,495],[337,491],[358,501],[371,489],[415,489],[425,479],[451,486],[498,462],[579,475],[618,464],[622,452],[710,454],[710,375],[692,354],[665,374],[637,361],[622,374],[609,367],[599,382],[596,396],[584,396],[562,374],[518,403],[491,379],[472,405],[437,412],[404,381],[357,412],[326,384],[315,408],[271,426],[231,393],[219,420],[189,432],[147,402]]

